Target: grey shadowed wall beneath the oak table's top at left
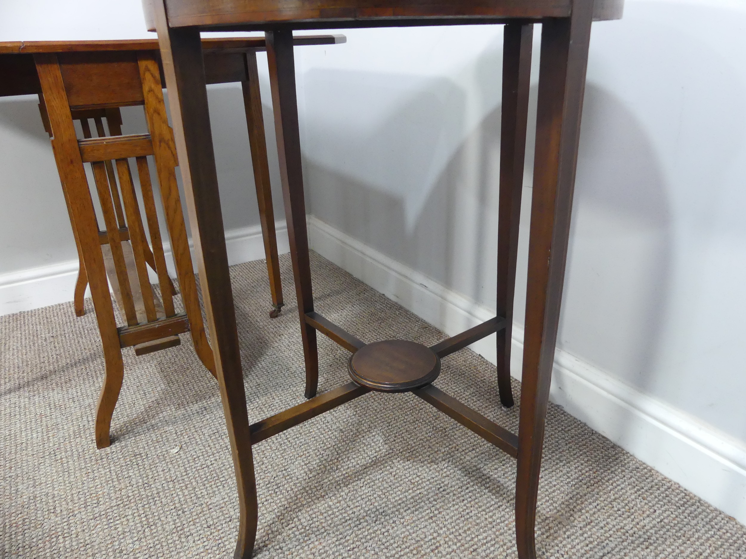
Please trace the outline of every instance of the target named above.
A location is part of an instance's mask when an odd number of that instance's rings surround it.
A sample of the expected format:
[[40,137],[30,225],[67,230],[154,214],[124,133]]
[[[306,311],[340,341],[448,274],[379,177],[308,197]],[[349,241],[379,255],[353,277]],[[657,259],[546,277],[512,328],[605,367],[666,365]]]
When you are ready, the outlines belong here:
[[[210,86],[208,100],[225,227],[236,229],[258,224],[259,212],[240,85]],[[0,152],[0,168],[3,170],[0,188],[4,197],[0,206],[0,274],[78,257],[57,166],[39,115],[38,102],[36,95],[0,99],[0,145],[3,146]],[[275,217],[281,219],[283,206],[277,151],[272,149],[275,131],[270,107],[265,107],[264,118],[270,173],[275,186]],[[147,131],[142,107],[123,107],[122,121],[125,134]],[[78,136],[83,137],[79,127]],[[93,173],[90,165],[85,166],[89,185],[93,188]],[[131,162],[131,168],[134,169],[134,162]],[[157,189],[152,161],[150,169],[152,183]],[[178,172],[177,178],[181,188],[181,174]],[[133,172],[133,179],[139,193],[137,172]],[[183,197],[183,189],[181,192]],[[156,197],[159,198],[157,193]],[[103,223],[98,197],[94,196],[93,200],[99,223]],[[157,208],[161,230],[165,233],[160,203],[157,203]],[[19,219],[18,216],[23,218]],[[188,223],[188,216],[184,217]]]

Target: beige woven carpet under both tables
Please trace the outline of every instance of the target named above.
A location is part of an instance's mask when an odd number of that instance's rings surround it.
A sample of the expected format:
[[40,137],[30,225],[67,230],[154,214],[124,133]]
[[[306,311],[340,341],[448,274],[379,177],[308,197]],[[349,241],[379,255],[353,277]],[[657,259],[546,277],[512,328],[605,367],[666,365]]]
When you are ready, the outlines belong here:
[[[252,421],[303,401],[289,259],[270,320],[263,262],[233,268]],[[313,256],[316,308],[364,341],[442,334]],[[227,558],[238,508],[216,382],[184,344],[136,358],[98,451],[104,367],[72,303],[0,318],[0,555]],[[319,338],[320,391],[347,353]],[[439,388],[510,429],[493,367],[446,358]],[[515,386],[518,391],[518,385]],[[181,445],[181,449],[173,453]],[[411,394],[369,394],[255,447],[257,558],[513,558],[515,461]],[[551,406],[539,489],[544,558],[746,558],[746,527]]]

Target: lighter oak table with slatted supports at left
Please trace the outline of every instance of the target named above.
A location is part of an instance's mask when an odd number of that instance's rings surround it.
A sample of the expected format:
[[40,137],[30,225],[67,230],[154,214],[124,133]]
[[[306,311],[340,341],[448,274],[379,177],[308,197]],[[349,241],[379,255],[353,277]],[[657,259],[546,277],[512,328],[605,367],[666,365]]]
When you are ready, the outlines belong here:
[[[344,39],[341,35],[297,37],[295,45],[328,45]],[[264,46],[263,37],[206,39],[204,63],[208,83],[242,84],[272,294],[270,316],[274,317],[283,297],[257,75],[256,53]],[[174,167],[178,162],[163,102],[162,74],[158,43],[152,39],[0,42],[0,96],[39,95],[42,121],[51,138],[78,247],[76,315],[84,315],[83,297],[87,285],[91,288],[106,364],[95,419],[99,448],[110,444],[111,419],[122,388],[123,348],[134,347],[137,355],[163,350],[180,344],[178,335],[188,331],[204,366],[213,374],[215,370],[176,186]],[[119,109],[132,105],[142,105],[148,134],[122,136]],[[76,136],[75,120],[81,125],[82,139]],[[98,137],[93,137],[90,121]],[[153,157],[157,170],[184,312],[176,312],[173,303],[177,292],[166,270],[148,156]],[[129,159],[136,162],[140,197]],[[93,170],[103,229],[91,200],[84,162]],[[160,296],[151,288],[148,267],[157,274]],[[116,326],[107,282],[125,326]]]

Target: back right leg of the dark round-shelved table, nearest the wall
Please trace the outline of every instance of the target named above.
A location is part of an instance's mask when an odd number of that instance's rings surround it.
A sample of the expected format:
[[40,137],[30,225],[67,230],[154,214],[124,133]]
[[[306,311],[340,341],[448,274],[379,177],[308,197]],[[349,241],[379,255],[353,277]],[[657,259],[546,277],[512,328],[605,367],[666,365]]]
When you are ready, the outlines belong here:
[[521,218],[532,43],[533,24],[518,22],[505,26],[497,290],[497,313],[505,317],[505,328],[497,335],[497,370],[500,401],[507,408],[513,405],[510,350],[513,344],[515,262],[518,259],[518,221]]

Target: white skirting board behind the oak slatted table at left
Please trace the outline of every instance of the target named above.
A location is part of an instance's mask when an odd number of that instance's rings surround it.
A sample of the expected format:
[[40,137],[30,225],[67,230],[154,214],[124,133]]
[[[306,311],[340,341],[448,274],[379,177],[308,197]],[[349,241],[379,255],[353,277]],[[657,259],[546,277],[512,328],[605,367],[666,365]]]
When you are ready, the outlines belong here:
[[[285,221],[278,221],[275,229],[278,252],[289,252]],[[264,258],[264,242],[259,225],[228,230],[225,233],[225,244],[228,247],[228,263],[231,265]],[[189,246],[192,247],[191,241]],[[176,277],[171,247],[164,243],[163,250],[166,252],[169,274]],[[0,274],[0,316],[72,301],[77,277],[77,259]],[[157,282],[155,274],[151,274],[151,282]],[[86,297],[90,297],[90,293]]]

